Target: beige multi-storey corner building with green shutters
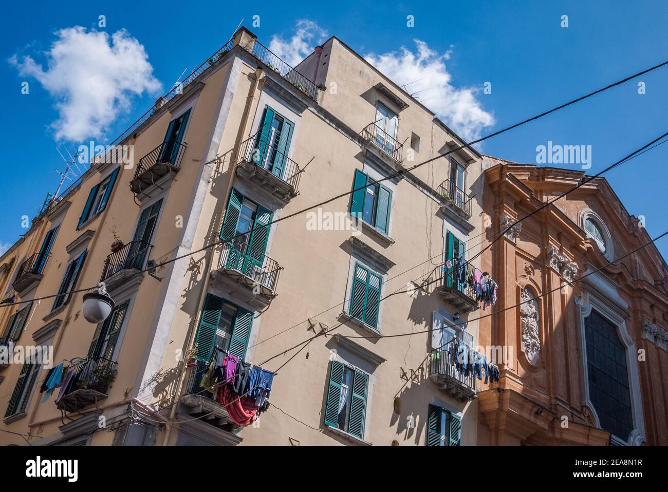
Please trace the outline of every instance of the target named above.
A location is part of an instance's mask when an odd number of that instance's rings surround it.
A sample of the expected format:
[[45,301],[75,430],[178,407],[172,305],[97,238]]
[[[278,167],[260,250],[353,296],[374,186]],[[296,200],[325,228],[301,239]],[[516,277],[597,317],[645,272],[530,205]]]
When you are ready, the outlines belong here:
[[[3,346],[73,378],[3,364],[1,442],[478,441],[447,343],[478,344],[482,156],[409,170],[464,145],[434,113],[336,37],[293,68],[242,28],[113,144],[0,258]],[[97,326],[44,298],[101,281]],[[276,372],[251,425],[199,384],[216,347]]]

